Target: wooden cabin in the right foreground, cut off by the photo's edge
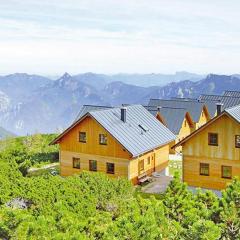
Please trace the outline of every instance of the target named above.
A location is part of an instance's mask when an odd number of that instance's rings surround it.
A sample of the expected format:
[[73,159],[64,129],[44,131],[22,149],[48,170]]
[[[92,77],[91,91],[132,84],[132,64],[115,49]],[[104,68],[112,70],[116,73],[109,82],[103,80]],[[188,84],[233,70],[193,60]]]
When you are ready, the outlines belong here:
[[174,147],[182,146],[183,181],[190,186],[224,189],[240,177],[240,105],[218,115]]

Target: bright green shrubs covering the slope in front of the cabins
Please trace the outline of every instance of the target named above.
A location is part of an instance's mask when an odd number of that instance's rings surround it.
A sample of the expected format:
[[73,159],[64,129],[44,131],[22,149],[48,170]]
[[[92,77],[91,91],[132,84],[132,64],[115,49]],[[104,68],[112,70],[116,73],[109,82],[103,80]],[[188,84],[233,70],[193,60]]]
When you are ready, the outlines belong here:
[[154,196],[99,173],[25,177],[26,165],[56,161],[53,137],[1,142],[1,239],[240,238],[239,181],[219,199],[210,191],[193,195],[177,176]]

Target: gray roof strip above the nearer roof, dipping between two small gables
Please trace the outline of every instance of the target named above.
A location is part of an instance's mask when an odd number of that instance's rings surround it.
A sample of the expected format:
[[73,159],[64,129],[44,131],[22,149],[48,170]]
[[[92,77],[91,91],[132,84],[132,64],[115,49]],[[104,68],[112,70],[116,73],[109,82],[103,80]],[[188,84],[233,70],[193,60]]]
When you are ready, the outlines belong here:
[[198,122],[204,103],[200,101],[176,100],[176,99],[150,99],[148,106],[169,108],[185,108],[190,113],[194,122]]

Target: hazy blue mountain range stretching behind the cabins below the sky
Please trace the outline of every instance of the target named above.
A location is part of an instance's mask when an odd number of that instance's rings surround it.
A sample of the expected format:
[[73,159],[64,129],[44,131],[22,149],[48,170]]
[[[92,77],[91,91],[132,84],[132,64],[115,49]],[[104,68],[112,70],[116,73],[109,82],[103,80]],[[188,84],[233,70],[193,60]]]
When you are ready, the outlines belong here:
[[[239,75],[209,74],[199,80],[200,75],[184,74],[189,79],[165,85],[159,84],[160,74],[154,74],[152,81],[158,75],[156,85],[148,87],[141,84],[144,79],[147,84],[147,74],[129,75],[128,80],[128,74],[117,78],[117,75],[65,73],[57,80],[25,73],[2,76],[0,126],[18,135],[56,132],[74,121],[83,104],[146,104],[150,98],[198,97],[202,93],[240,90]],[[136,83],[137,76],[139,84],[129,84]]]

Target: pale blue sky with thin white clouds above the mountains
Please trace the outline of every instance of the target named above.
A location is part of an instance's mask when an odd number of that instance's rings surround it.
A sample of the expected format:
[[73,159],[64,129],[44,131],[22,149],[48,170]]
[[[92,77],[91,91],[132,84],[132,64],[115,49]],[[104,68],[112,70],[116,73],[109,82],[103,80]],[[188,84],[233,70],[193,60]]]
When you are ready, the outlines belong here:
[[0,74],[240,72],[240,0],[0,0]]

